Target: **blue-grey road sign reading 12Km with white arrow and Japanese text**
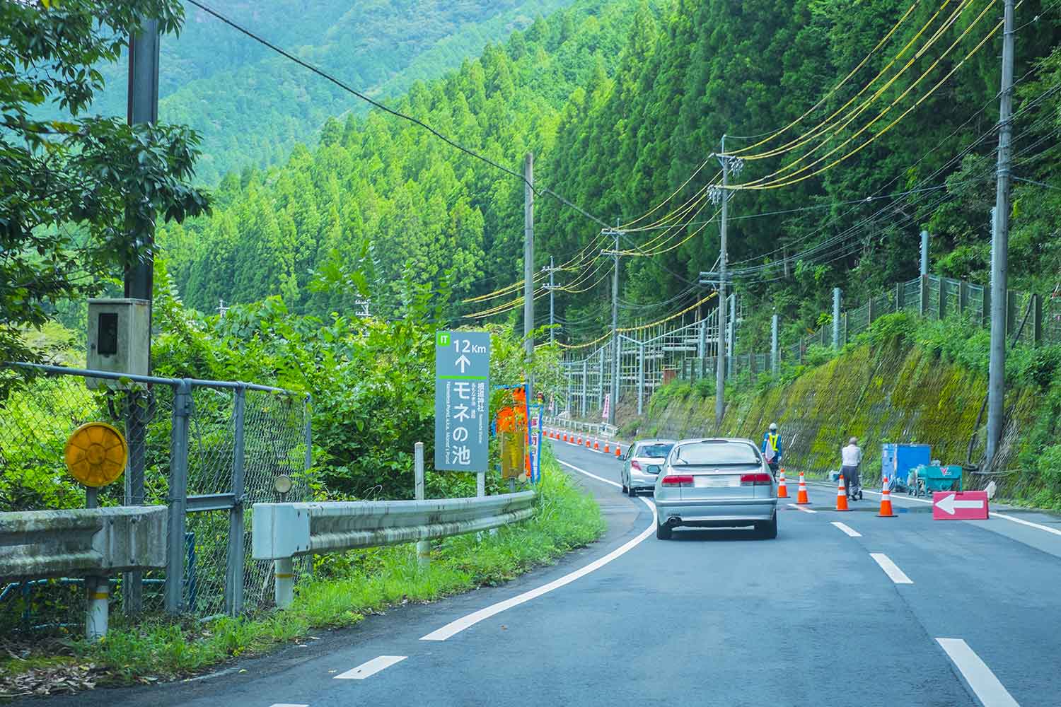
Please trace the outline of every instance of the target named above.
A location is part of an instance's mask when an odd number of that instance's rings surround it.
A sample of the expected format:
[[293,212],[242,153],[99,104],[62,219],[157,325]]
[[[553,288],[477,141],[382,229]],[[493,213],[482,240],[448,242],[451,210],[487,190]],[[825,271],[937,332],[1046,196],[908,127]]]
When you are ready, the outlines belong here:
[[435,335],[435,469],[485,472],[490,444],[490,333]]

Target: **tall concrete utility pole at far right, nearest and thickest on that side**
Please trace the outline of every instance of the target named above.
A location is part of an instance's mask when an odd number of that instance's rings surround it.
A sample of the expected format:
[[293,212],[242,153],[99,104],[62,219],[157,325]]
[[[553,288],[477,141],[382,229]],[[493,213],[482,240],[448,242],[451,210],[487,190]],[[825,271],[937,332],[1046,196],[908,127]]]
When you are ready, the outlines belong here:
[[1006,0],[1002,43],[1002,98],[998,103],[998,181],[991,234],[991,360],[988,372],[988,464],[1002,439],[1006,396],[1006,291],[1009,255],[1009,170],[1013,139],[1013,0]]

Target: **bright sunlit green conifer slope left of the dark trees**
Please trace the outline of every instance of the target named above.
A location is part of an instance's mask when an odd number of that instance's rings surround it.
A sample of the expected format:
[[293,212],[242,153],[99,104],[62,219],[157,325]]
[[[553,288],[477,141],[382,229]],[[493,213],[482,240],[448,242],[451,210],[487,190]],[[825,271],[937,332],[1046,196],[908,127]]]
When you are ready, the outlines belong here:
[[[580,0],[394,105],[503,164],[547,155],[569,99],[604,87],[631,25],[653,21],[649,5],[634,10]],[[350,306],[361,282],[386,315],[413,285],[459,298],[505,284],[522,224],[520,182],[372,112],[328,121],[319,144],[280,169],[230,176],[211,218],[158,240],[186,302],[203,311],[280,294],[295,312],[327,314]]]

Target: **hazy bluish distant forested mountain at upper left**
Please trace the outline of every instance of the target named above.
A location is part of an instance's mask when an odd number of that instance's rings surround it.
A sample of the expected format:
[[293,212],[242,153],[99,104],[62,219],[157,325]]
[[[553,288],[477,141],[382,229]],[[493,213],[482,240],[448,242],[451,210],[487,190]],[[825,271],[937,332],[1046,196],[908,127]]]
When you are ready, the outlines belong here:
[[[268,0],[214,6],[236,22],[377,96],[456,67],[484,45],[571,0]],[[159,118],[203,136],[198,179],[267,166],[316,139],[329,116],[365,107],[194,5],[179,37],[162,38]],[[127,65],[101,67],[107,88],[92,106],[125,114]]]

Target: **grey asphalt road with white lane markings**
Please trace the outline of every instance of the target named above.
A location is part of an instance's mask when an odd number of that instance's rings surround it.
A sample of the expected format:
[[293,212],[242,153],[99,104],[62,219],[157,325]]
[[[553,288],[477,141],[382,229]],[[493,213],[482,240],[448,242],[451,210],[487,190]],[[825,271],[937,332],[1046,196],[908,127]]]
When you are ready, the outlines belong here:
[[609,520],[559,565],[194,682],[48,703],[1061,704],[1057,518],[934,522],[904,496],[899,517],[879,518],[870,493],[837,513],[835,489],[814,485],[815,512],[782,506],[777,540],[662,542],[650,497],[620,493],[612,457],[556,444]]

